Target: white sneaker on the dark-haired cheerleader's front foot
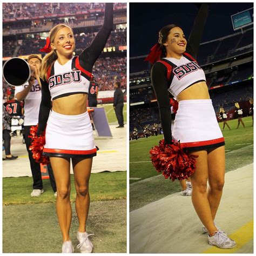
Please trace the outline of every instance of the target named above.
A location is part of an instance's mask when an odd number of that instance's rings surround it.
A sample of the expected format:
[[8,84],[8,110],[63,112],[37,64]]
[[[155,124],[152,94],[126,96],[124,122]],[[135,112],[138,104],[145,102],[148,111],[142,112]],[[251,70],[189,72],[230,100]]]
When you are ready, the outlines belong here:
[[212,237],[208,235],[208,244],[217,246],[221,249],[231,249],[237,246],[236,242],[227,237],[223,231],[216,232]]

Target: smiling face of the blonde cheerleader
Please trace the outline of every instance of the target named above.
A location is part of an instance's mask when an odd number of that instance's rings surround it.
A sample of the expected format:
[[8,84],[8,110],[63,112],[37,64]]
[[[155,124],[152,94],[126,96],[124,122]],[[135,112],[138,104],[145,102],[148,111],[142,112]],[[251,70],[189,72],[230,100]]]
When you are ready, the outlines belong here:
[[51,43],[51,48],[57,51],[59,56],[70,56],[75,49],[75,39],[70,28],[59,29]]

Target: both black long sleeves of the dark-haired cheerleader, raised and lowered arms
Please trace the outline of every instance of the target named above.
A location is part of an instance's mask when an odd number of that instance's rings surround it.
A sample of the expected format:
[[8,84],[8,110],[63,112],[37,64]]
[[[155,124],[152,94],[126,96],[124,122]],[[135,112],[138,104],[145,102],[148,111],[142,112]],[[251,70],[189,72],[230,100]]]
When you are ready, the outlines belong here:
[[[186,46],[186,53],[191,55],[194,59],[197,58],[207,15],[208,4],[201,4]],[[171,107],[168,91],[170,83],[167,79],[167,68],[165,65],[157,62],[152,66],[151,82],[157,97],[165,143],[171,144]]]

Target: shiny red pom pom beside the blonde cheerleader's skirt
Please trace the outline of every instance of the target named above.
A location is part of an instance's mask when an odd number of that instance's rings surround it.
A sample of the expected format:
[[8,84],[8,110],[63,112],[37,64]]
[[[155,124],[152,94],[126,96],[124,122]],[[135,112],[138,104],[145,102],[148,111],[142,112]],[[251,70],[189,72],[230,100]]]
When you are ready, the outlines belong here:
[[43,150],[45,145],[45,132],[39,137],[37,137],[37,126],[31,126],[30,128],[30,138],[31,138],[31,145],[29,147],[29,150],[32,151],[32,157],[35,159],[37,163],[41,164],[49,164],[50,159],[49,157],[43,156]]

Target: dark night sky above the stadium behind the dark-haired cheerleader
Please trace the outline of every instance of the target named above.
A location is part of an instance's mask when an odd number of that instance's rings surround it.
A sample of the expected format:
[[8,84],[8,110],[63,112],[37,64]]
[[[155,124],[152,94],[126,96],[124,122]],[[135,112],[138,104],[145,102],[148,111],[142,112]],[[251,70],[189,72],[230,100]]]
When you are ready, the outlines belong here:
[[[202,42],[234,33],[231,15],[252,7],[253,3],[211,3]],[[130,57],[148,54],[167,24],[181,26],[188,38],[197,11],[193,3],[130,3]]]

